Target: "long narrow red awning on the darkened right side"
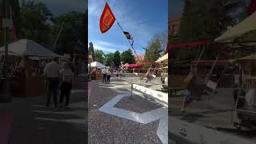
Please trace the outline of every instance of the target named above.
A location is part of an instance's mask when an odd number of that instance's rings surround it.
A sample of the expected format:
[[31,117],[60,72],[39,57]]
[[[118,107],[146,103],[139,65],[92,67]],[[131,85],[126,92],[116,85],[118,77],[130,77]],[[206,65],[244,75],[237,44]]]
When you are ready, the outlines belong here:
[[214,42],[213,39],[207,39],[207,40],[202,40],[202,41],[197,41],[197,42],[182,42],[178,43],[175,45],[170,45],[170,48],[175,49],[175,48],[191,48],[194,46],[205,46],[210,44],[211,42]]

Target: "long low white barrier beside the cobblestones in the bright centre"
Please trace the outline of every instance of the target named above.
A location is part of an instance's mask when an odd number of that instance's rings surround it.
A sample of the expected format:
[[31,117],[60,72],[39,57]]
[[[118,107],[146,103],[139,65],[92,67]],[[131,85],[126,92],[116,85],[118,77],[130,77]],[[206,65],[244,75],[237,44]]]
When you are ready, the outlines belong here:
[[168,94],[162,93],[157,90],[151,90],[144,86],[138,86],[136,84],[133,84],[133,88],[135,90],[141,91],[144,94],[149,95],[151,98],[154,98],[154,100],[160,103],[162,106],[168,107]]

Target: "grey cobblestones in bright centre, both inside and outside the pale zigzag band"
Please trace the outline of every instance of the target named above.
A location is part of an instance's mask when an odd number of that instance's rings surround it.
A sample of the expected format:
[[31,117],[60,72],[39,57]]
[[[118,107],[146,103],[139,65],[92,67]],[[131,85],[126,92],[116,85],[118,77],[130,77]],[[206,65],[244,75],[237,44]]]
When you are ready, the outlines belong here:
[[[110,84],[102,84],[101,81],[92,82],[93,90],[91,91],[92,95],[90,96],[89,102],[89,143],[161,144],[162,142],[157,135],[159,120],[143,124],[106,114],[98,110],[117,96],[117,90],[130,92],[128,83],[116,82],[114,78],[111,80]],[[118,87],[113,88],[113,86]],[[154,110],[159,107],[157,103],[150,101],[150,99],[141,98],[141,96],[136,94],[134,94],[133,98],[134,100],[124,98],[115,107],[138,113],[145,112],[146,110]]]

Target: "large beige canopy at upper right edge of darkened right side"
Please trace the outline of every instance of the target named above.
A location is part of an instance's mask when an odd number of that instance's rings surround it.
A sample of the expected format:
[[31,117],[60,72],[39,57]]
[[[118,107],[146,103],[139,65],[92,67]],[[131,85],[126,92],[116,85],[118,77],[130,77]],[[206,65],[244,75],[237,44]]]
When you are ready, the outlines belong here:
[[[256,41],[256,12],[239,22],[236,26],[231,27],[220,37],[216,38],[215,42],[249,42]],[[250,43],[250,45],[255,43]]]

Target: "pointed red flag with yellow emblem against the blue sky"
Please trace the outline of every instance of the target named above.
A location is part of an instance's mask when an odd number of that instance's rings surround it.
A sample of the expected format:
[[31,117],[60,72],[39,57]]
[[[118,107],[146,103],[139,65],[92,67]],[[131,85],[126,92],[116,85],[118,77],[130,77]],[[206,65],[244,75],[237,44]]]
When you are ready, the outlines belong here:
[[113,26],[114,24],[114,21],[114,14],[110,10],[110,6],[106,3],[106,6],[102,12],[102,16],[99,22],[102,34],[105,33],[107,30],[110,30],[111,26]]

